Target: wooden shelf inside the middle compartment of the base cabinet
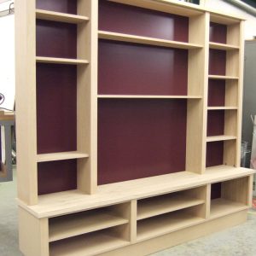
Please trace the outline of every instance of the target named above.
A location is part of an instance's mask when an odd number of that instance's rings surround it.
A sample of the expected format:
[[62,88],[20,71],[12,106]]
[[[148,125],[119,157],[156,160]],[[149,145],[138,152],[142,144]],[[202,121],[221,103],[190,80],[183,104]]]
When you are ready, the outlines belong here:
[[166,212],[174,212],[203,203],[203,200],[192,198],[178,192],[173,195],[160,195],[137,201],[137,219],[149,218]]

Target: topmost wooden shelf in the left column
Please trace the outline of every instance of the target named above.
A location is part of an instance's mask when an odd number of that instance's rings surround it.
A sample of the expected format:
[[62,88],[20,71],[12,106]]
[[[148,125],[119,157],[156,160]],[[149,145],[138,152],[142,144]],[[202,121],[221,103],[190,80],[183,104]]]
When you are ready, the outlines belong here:
[[36,9],[36,17],[40,20],[52,20],[65,23],[79,24],[88,21],[89,18],[81,15],[69,15],[44,9]]

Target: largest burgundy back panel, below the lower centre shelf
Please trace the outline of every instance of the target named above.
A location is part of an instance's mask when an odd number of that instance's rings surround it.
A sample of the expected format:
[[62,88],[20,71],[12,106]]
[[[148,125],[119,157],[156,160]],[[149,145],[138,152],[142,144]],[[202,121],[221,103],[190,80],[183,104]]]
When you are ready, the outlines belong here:
[[185,100],[99,100],[98,184],[184,171],[186,120]]

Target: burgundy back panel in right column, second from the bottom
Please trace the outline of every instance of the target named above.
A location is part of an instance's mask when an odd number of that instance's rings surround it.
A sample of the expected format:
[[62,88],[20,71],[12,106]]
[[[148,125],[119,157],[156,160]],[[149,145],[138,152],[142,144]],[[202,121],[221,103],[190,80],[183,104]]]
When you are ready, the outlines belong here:
[[207,136],[224,135],[224,110],[209,110]]

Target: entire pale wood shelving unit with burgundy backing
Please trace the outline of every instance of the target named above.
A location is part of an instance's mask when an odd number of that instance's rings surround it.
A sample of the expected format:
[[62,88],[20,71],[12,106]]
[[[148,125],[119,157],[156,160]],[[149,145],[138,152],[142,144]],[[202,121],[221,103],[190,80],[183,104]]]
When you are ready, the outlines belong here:
[[147,255],[246,221],[243,23],[174,0],[16,0],[20,250]]

